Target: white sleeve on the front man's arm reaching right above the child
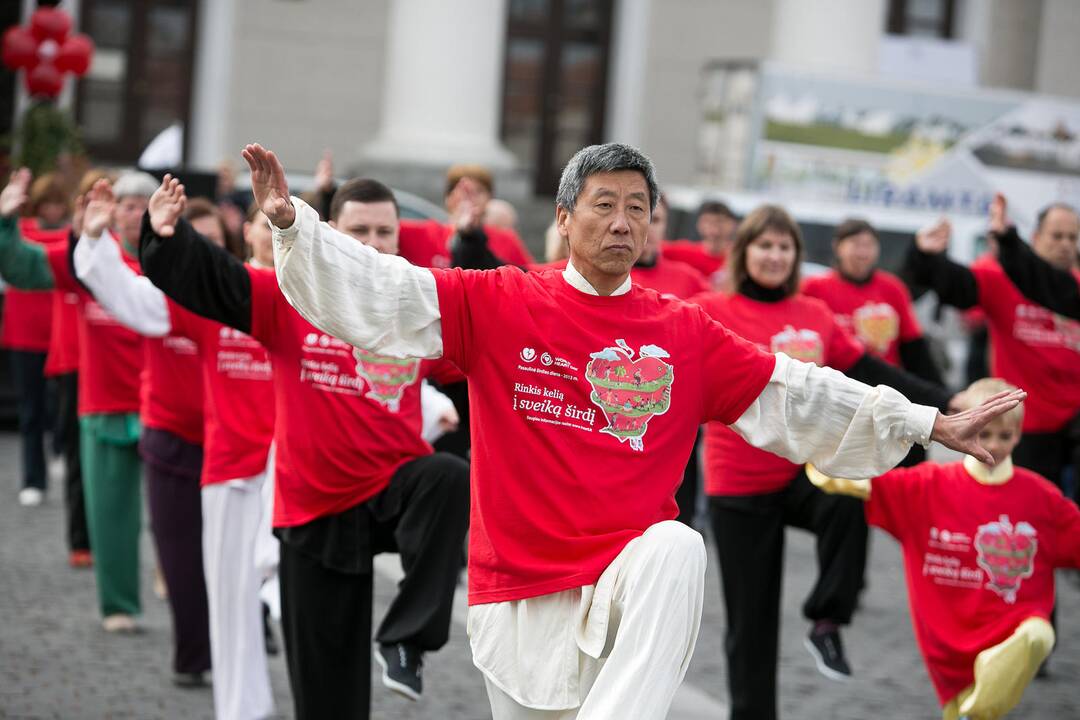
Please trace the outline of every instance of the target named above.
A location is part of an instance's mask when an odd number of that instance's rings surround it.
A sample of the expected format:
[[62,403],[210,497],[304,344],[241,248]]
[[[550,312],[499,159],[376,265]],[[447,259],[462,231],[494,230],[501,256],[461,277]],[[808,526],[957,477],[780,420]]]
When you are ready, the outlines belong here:
[[834,477],[876,477],[930,444],[937,410],[892,388],[777,353],[761,394],[731,425],[755,447]]

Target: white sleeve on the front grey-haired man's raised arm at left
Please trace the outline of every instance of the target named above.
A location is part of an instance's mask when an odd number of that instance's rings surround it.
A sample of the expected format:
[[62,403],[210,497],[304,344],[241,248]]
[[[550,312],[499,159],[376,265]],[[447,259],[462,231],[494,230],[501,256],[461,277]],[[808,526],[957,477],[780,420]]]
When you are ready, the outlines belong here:
[[309,323],[349,344],[393,357],[440,357],[435,277],[338,232],[293,198],[296,220],[273,229],[278,284]]

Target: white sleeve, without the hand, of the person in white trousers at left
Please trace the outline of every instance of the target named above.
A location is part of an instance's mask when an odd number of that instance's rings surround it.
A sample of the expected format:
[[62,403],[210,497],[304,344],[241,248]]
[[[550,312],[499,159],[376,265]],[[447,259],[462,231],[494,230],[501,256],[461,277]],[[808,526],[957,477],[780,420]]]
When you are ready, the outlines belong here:
[[76,275],[121,325],[151,338],[172,331],[165,294],[127,267],[108,230],[97,240],[83,233],[73,256]]

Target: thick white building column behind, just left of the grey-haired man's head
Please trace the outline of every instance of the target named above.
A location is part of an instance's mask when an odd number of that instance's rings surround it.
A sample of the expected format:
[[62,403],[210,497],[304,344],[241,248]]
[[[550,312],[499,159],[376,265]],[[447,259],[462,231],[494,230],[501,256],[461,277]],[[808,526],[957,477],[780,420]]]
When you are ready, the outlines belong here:
[[393,0],[368,160],[514,165],[499,142],[505,0]]

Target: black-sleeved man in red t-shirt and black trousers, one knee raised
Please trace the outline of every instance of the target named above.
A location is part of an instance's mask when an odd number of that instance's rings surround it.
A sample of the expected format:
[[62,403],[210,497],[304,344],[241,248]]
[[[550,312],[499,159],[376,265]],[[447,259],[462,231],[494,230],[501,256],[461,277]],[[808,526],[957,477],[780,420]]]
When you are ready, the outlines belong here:
[[[388,551],[401,553],[405,579],[376,657],[383,682],[415,699],[422,654],[448,637],[469,517],[468,465],[420,438],[420,380],[458,373],[316,330],[272,270],[240,263],[178,220],[183,203],[183,186],[166,177],[144,217],[144,272],[179,304],[259,340],[273,364],[274,527],[296,715],[368,716],[372,557]],[[396,249],[397,207],[384,186],[346,184],[332,215],[360,242]],[[254,221],[254,242],[269,243],[266,220]]]

